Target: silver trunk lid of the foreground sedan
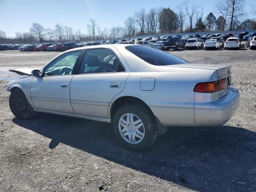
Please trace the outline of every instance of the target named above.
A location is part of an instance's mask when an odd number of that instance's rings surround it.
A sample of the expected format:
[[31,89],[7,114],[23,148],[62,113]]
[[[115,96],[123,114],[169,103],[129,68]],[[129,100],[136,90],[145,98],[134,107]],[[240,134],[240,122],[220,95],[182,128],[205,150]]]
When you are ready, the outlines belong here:
[[231,67],[230,66],[218,66],[218,65],[208,65],[208,64],[176,64],[168,65],[167,67],[182,67],[182,68],[198,68],[198,69],[209,69],[217,71],[218,80],[225,79],[226,88],[219,90],[219,98],[227,94],[230,90],[231,85]]

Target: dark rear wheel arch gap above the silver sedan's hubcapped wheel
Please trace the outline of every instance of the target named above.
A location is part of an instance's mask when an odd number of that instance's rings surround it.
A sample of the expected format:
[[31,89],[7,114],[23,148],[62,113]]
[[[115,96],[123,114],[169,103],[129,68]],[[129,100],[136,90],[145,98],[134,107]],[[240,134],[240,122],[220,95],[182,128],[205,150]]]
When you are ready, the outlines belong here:
[[110,106],[110,121],[113,121],[114,114],[115,112],[122,106],[127,105],[127,104],[136,104],[141,107],[145,107],[146,110],[150,113],[152,118],[154,118],[154,121],[156,123],[157,129],[158,129],[158,134],[162,135],[167,131],[167,127],[163,126],[162,123],[158,120],[158,118],[154,115],[150,107],[144,102],[142,99],[134,96],[121,96],[119,98],[116,98],[114,100],[113,104]]

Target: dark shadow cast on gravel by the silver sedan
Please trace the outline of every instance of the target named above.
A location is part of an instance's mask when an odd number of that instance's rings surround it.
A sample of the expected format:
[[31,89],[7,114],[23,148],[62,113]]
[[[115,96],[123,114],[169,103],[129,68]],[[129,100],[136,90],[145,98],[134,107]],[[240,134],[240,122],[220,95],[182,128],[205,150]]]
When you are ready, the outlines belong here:
[[137,171],[204,191],[256,190],[256,133],[235,126],[171,127],[143,152],[122,147],[112,125],[40,114],[13,119],[28,130]]

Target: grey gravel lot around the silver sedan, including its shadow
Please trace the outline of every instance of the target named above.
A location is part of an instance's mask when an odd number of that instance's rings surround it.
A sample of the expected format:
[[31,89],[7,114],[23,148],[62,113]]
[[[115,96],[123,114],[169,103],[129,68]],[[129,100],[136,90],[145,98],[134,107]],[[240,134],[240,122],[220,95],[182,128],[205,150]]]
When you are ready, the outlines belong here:
[[[0,191],[255,192],[256,50],[170,51],[191,62],[232,66],[241,92],[224,126],[172,127],[143,152],[126,150],[107,123],[40,114],[19,120],[0,81]],[[0,79],[10,68],[42,66],[54,52],[0,52]]]

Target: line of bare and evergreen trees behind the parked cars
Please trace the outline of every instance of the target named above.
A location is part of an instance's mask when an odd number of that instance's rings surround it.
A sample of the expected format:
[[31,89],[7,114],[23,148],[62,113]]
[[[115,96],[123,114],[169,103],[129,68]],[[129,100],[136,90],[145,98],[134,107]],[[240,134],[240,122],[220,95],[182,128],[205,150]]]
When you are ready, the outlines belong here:
[[[160,33],[206,32],[226,30],[256,29],[256,20],[246,18],[245,0],[219,0],[214,6],[215,14],[210,12],[203,18],[204,9],[186,1],[176,8],[144,8],[126,18],[123,26],[101,28],[93,18],[86,25],[86,32],[74,30],[70,26],[57,23],[55,27],[45,28],[39,23],[32,23],[29,32],[16,32],[15,37],[7,37],[0,30],[0,42],[62,42],[120,39],[132,36]],[[251,6],[251,13],[256,15],[256,7]]]

